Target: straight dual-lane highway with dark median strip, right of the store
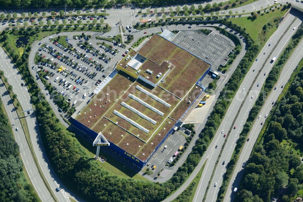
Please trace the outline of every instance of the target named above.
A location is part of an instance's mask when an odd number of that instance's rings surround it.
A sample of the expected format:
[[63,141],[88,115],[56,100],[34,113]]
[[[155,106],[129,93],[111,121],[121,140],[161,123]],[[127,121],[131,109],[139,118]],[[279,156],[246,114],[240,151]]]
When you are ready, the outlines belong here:
[[[292,9],[291,13],[285,16],[284,20],[281,22],[276,32],[270,37],[270,39],[268,39],[267,44],[263,47],[263,49],[257,56],[258,61],[255,61],[253,63],[250,70],[248,71],[245,78],[243,79],[243,82],[241,83],[238,92],[235,95],[235,98],[232,100],[230,107],[228,108],[228,111],[225,117],[223,118],[217,133],[215,134],[214,139],[212,140],[211,144],[208,146],[208,150],[204,154],[205,156],[204,158],[207,157],[208,161],[202,173],[202,177],[198,185],[198,189],[196,190],[194,201],[201,201],[205,195],[208,182],[211,178],[211,174],[213,173],[213,170],[215,169],[216,161],[219,157],[220,150],[225,141],[223,135],[227,133],[228,140],[222,152],[222,156],[219,160],[214,178],[211,181],[208,190],[208,195],[205,201],[209,202],[216,200],[219,187],[221,186],[222,183],[223,174],[226,171],[226,166],[228,165],[231,154],[233,153],[236,141],[238,140],[239,134],[245,123],[244,121],[247,119],[248,113],[252,108],[253,104],[255,103],[259,90],[261,89],[261,87],[257,87],[257,84],[260,83],[260,86],[262,86],[262,84],[266,79],[266,76],[268,75],[268,74],[267,75],[264,74],[270,72],[274,64],[274,63],[270,63],[270,60],[273,58],[273,56],[279,56],[282,49],[285,47],[285,45],[287,45],[287,42],[290,39],[291,35],[295,32],[295,30],[293,30],[293,27],[298,27],[298,25],[301,24],[301,20],[297,19],[293,23],[293,25],[291,25],[287,33],[284,35],[283,39],[279,42],[277,48],[274,49],[277,40],[280,39],[283,33],[288,29],[289,25],[296,18],[298,13],[299,12],[297,10]],[[268,46],[269,43],[271,43],[271,46]],[[271,52],[273,53],[271,54]],[[265,67],[261,70],[261,66],[263,63],[265,63]],[[259,73],[259,71],[261,72]],[[256,76],[258,77],[257,80],[254,82]],[[253,83],[255,83],[254,86],[250,91],[248,91]],[[242,89],[244,90],[242,91]],[[248,96],[245,97],[247,93]],[[237,114],[238,110],[240,109],[240,106],[243,101],[244,104],[238,115]],[[236,117],[238,118],[234,123]],[[234,125],[237,126],[235,129],[234,129]],[[230,129],[231,129],[231,133],[228,133]],[[224,132],[221,132],[222,130],[224,130]],[[216,145],[218,145],[217,149],[215,149]],[[223,161],[226,161],[225,165],[222,165]],[[214,186],[215,183],[218,183],[216,187]]]

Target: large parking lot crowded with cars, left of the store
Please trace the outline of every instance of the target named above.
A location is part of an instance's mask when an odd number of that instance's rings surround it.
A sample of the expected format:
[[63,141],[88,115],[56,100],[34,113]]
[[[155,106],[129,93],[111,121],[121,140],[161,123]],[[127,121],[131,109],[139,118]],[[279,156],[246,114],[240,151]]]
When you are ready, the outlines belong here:
[[[85,41],[88,46],[84,45]],[[118,46],[119,43],[106,41],[107,46],[113,47],[109,49],[97,45],[96,41],[102,42],[88,37],[65,38],[68,44],[66,47],[50,38],[47,43],[40,44],[37,50],[44,62],[39,62],[32,71],[35,74],[47,71],[50,74],[48,81],[55,90],[65,96],[72,106],[77,107],[108,76],[126,50],[120,47],[122,45]]]

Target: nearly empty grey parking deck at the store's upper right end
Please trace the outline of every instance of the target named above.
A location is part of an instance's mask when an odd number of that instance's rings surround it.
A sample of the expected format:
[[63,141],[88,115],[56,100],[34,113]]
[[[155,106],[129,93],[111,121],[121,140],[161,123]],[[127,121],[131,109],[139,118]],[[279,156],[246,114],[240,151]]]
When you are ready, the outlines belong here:
[[234,43],[216,32],[205,35],[200,31],[179,31],[171,40],[183,47],[188,52],[211,63],[217,68],[220,64],[225,65],[228,61],[228,54],[235,47]]

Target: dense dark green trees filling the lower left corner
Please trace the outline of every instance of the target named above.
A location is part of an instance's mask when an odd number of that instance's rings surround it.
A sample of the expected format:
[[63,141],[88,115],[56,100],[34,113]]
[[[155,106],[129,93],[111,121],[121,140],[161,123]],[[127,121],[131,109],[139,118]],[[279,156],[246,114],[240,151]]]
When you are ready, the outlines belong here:
[[0,200],[39,201],[22,171],[19,146],[12,134],[12,127],[0,105]]

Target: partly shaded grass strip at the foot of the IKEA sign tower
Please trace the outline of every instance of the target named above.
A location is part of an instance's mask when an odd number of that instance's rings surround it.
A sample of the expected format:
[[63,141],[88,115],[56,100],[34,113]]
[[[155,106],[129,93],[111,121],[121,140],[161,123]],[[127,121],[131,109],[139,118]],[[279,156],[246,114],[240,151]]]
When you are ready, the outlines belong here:
[[[76,136],[79,143],[82,145],[85,152],[92,158],[95,157],[96,147],[92,146],[91,143],[84,140],[80,136]],[[105,170],[108,170],[109,172],[121,176],[121,177],[131,177],[133,179],[138,180],[147,180],[142,175],[138,174],[137,172],[133,171],[127,166],[123,166],[122,163],[120,163],[118,160],[115,160],[112,156],[108,155],[107,153],[100,150],[100,156],[103,156],[106,158],[106,162],[102,163],[98,160],[98,164],[100,167],[104,168]]]

